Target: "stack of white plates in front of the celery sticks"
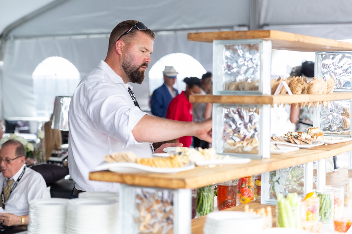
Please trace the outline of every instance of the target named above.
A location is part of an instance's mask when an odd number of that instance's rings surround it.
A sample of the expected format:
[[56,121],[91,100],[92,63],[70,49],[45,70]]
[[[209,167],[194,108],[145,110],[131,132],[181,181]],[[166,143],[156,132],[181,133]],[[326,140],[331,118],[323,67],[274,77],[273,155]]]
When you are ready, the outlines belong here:
[[221,211],[207,215],[204,234],[243,233],[250,228],[251,233],[260,233],[264,225],[264,217],[240,211]]

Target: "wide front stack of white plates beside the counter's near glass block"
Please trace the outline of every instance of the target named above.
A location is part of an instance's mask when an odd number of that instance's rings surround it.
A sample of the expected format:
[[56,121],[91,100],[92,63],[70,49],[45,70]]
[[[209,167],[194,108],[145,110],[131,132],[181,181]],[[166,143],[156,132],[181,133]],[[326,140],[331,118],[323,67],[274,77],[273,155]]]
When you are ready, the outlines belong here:
[[118,202],[100,198],[71,199],[67,205],[67,234],[118,233]]

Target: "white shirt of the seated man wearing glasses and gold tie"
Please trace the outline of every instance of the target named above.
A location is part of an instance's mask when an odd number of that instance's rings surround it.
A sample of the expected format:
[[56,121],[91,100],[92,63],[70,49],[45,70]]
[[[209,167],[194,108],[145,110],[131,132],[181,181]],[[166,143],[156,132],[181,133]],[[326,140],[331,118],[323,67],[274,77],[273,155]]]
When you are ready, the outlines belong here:
[[[14,176],[12,176],[12,178],[10,178],[10,180],[14,180],[11,188],[14,186],[14,183],[20,176],[23,168],[24,165]],[[6,180],[7,179],[4,178],[1,173],[0,188],[4,189],[4,187],[7,185]],[[4,212],[18,216],[27,215],[29,214],[29,202],[34,199],[42,198],[49,198],[43,176],[31,168],[26,168],[22,178],[7,200]]]

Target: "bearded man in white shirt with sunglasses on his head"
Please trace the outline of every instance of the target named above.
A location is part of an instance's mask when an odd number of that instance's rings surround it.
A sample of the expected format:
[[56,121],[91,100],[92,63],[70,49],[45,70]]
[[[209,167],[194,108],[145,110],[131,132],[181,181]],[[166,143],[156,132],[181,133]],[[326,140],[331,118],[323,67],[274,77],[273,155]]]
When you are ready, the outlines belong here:
[[[148,142],[181,136],[211,141],[211,119],[199,123],[172,121],[140,110],[127,82],[144,80],[154,38],[142,22],[121,22],[111,32],[105,61],[99,61],[78,84],[69,108],[69,171],[76,182],[73,197],[81,191],[118,192],[117,183],[88,178],[104,155],[132,151],[139,157],[151,157],[153,149]],[[164,144],[155,152],[171,146],[182,144]]]

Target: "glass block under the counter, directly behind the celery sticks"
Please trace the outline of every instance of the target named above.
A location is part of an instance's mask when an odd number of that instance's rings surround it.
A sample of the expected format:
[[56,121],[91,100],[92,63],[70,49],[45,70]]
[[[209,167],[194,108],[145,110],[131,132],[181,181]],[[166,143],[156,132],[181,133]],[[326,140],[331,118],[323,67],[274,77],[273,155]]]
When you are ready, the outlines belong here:
[[304,194],[304,164],[262,173],[262,193],[260,203],[277,203],[276,195],[282,193]]

